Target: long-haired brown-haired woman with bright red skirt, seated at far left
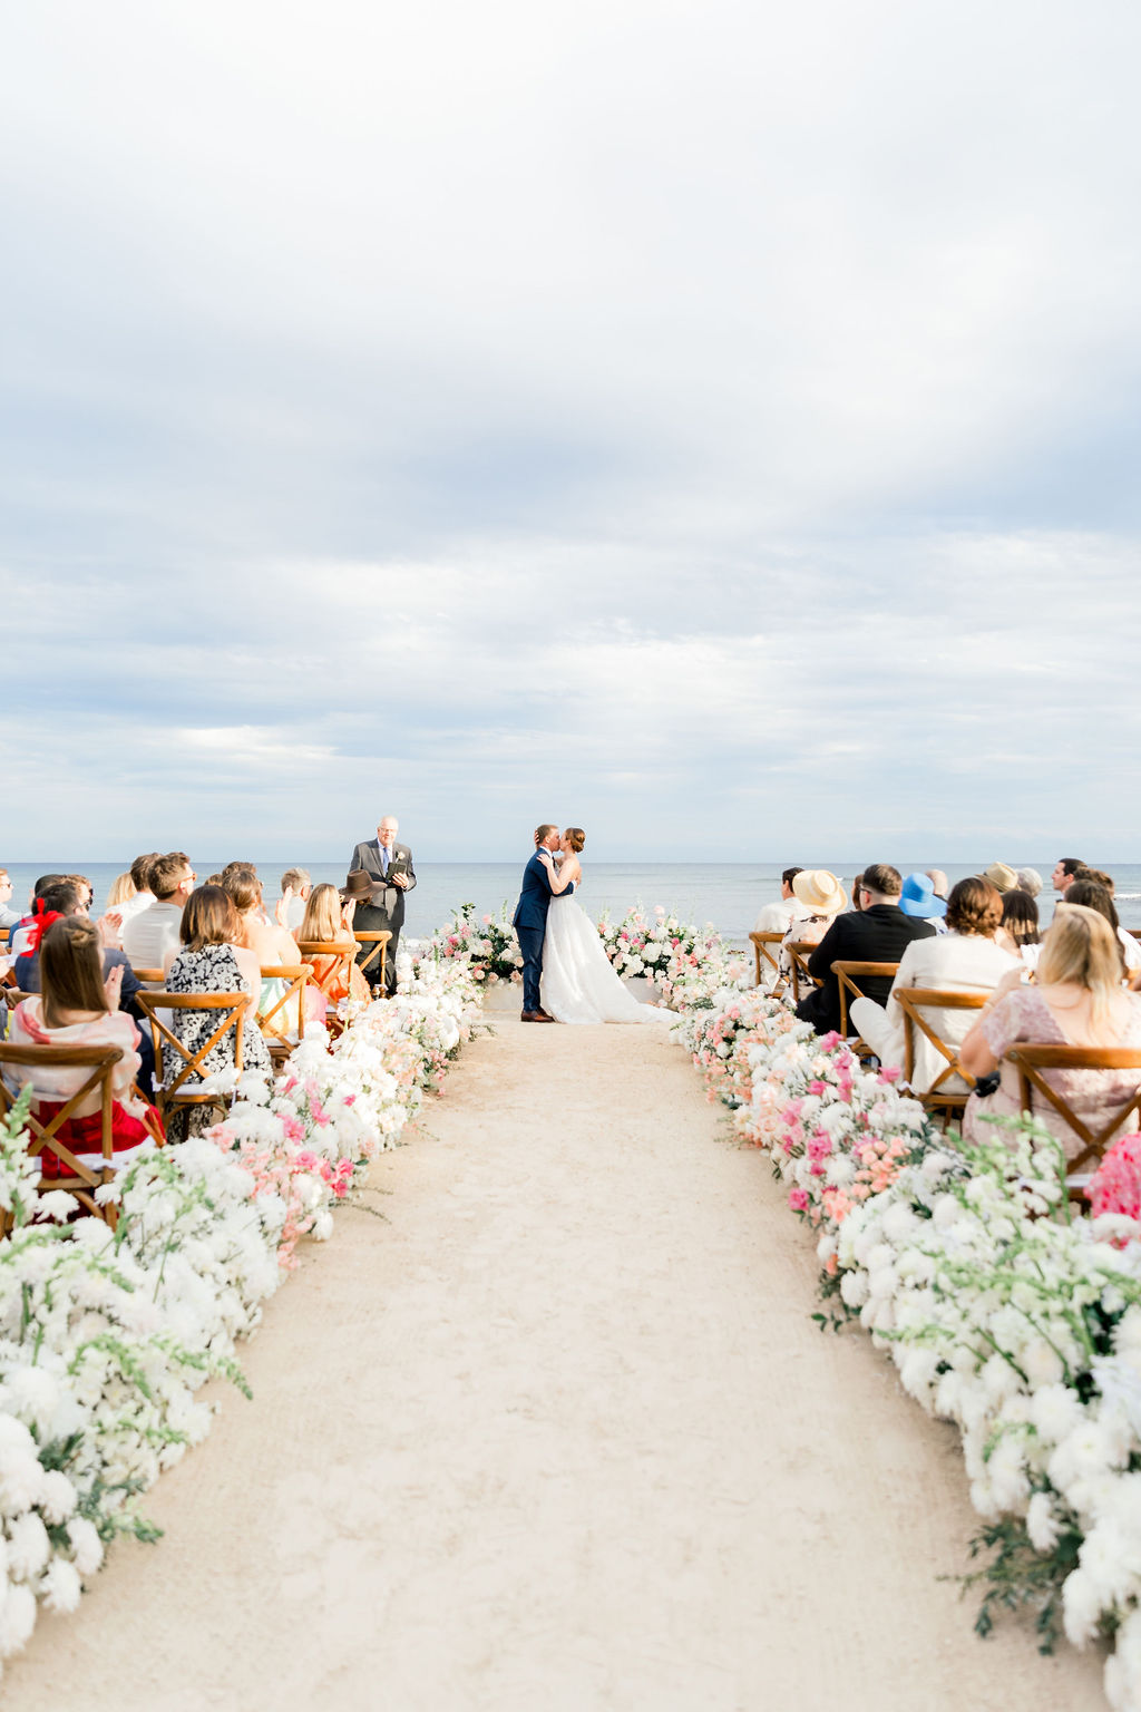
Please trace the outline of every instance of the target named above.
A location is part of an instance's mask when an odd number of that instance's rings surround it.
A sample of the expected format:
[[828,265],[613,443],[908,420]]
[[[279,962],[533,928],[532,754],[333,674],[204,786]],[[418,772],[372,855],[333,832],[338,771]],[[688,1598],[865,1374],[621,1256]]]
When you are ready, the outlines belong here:
[[[118,969],[109,991],[103,983],[103,947],[92,921],[82,914],[56,916],[38,947],[43,991],[15,1007],[9,1041],[12,1046],[116,1046],[120,1061],[111,1072],[111,1147],[116,1156],[133,1152],[142,1142],[163,1138],[163,1123],[154,1106],[132,1092],[139,1075],[139,1029],[128,1015],[115,1008]],[[87,1077],[82,1065],[31,1068],[9,1065],[17,1087],[33,1082],[36,1108],[62,1106]],[[41,1121],[50,1115],[38,1109]],[[84,1099],[60,1126],[60,1140],[84,1164],[96,1164],[103,1154],[103,1113],[99,1092]],[[58,1161],[44,1150],[43,1176],[65,1176]]]

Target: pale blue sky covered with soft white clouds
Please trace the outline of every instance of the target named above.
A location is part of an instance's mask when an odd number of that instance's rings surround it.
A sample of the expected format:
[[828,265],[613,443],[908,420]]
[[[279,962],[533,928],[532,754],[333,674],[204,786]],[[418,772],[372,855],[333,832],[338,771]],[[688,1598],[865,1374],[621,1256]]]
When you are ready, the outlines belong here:
[[0,861],[1139,859],[1139,62],[1127,0],[15,9]]

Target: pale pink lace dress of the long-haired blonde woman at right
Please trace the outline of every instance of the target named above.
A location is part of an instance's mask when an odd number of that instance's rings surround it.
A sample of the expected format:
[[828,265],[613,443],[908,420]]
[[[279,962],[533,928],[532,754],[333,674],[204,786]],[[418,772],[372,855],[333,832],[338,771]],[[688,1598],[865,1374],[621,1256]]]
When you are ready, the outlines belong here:
[[[1122,996],[1127,1000],[1129,1010],[1114,1044],[1141,1048],[1141,998],[1136,993],[1124,993]],[[1008,1046],[1014,1046],[1018,1041],[1033,1043],[1035,1046],[1073,1044],[1066,1039],[1054,1019],[1054,1012],[1033,986],[1020,986],[999,1000],[990,1015],[984,1019],[982,1032],[987,1046],[999,1060],[1002,1060]],[[1021,1113],[1014,1065],[1001,1063],[999,1075],[1002,1080],[994,1094],[987,1094],[985,1099],[972,1094],[967,1101],[963,1140],[990,1142],[996,1135],[1002,1133],[1001,1130],[996,1132],[994,1125],[978,1121],[984,1115],[1018,1116]],[[1129,1099],[1138,1082],[1141,1082],[1141,1070],[1043,1070],[1042,1077],[1050,1087],[1057,1089],[1059,1096],[1091,1130],[1098,1130],[1110,1118],[1114,1108],[1122,1106]],[[1038,1096],[1033,1115],[1057,1135],[1067,1159],[1076,1157],[1086,1145],[1043,1096]],[[1141,1128],[1141,1120],[1134,1111],[1114,1135],[1126,1135],[1136,1128]]]

